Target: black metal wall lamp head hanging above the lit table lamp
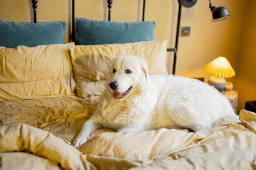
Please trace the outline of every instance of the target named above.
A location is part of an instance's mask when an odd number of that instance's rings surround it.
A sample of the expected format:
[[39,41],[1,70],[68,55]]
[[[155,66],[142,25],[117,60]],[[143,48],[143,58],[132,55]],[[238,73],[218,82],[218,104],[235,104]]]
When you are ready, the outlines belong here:
[[227,10],[227,8],[225,7],[215,7],[211,5],[211,0],[209,0],[210,2],[210,9],[212,12],[212,17],[213,17],[213,22],[215,21],[221,21],[221,20],[225,20],[229,17],[231,17],[231,15],[229,15],[229,11]]

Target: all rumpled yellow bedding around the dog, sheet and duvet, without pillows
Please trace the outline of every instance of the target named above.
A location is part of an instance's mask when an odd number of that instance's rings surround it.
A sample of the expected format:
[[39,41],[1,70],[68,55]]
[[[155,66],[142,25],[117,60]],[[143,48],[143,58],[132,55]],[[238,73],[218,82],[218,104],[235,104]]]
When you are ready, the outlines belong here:
[[256,169],[253,112],[242,110],[239,118],[226,116],[195,133],[99,129],[74,148],[70,143],[91,114],[85,101],[40,99],[22,107],[28,101],[1,102],[0,169]]

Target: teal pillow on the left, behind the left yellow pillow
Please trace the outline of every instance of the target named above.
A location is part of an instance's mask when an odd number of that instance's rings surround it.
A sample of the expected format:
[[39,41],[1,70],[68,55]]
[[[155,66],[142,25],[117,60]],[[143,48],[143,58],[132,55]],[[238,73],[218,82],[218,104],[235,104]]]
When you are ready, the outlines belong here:
[[67,23],[57,22],[4,22],[0,20],[0,46],[13,48],[19,45],[34,47],[63,44]]

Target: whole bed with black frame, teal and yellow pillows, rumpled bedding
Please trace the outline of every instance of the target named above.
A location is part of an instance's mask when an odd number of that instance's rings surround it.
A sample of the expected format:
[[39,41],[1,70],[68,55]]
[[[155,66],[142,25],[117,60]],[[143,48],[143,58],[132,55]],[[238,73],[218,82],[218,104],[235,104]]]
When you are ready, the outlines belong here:
[[[67,24],[36,23],[32,2],[35,23],[0,21],[0,169],[256,169],[256,113],[245,109],[211,129],[98,129],[79,148],[72,146],[97,107],[114,57],[134,54],[147,61],[150,74],[168,74],[166,52],[176,59],[177,44],[168,49],[166,40],[153,40],[154,22],[85,18],[73,22],[73,42],[64,44]],[[97,34],[124,24],[145,34],[125,30],[136,38],[125,41]]]

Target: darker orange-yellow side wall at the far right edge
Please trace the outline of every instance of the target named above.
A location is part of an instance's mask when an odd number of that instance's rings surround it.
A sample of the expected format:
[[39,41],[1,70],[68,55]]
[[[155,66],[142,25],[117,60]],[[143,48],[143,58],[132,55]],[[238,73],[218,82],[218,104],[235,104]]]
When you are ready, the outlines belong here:
[[244,13],[243,33],[238,53],[238,70],[234,85],[238,90],[238,108],[245,107],[245,101],[256,100],[256,1],[247,0]]

